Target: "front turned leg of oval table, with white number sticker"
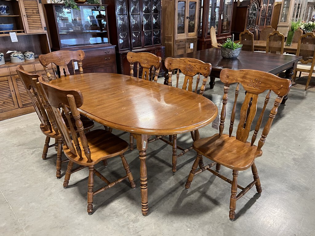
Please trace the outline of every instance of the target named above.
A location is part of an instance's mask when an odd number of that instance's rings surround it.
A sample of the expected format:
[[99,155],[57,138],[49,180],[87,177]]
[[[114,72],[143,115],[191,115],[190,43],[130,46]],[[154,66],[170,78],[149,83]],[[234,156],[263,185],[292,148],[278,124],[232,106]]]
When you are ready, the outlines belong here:
[[146,171],[146,149],[148,146],[148,135],[145,134],[134,134],[137,139],[137,149],[139,150],[140,159],[140,188],[141,188],[141,210],[142,215],[148,214],[148,182],[147,182],[147,171]]

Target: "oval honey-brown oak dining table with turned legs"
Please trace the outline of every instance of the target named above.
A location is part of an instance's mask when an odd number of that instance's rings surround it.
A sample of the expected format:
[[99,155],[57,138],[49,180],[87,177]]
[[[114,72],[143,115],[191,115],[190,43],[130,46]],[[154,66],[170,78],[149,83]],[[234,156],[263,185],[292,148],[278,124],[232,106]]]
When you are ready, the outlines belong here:
[[146,149],[150,135],[198,130],[212,122],[218,108],[208,98],[180,88],[111,73],[88,73],[50,81],[83,94],[81,114],[137,140],[142,214],[148,213]]

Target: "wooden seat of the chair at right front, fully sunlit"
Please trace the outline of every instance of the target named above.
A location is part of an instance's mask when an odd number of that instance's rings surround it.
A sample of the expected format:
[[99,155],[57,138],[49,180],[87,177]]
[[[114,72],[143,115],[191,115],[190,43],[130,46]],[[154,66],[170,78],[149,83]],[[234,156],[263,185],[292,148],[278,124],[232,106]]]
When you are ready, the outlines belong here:
[[257,151],[257,146],[250,146],[249,142],[243,143],[227,134],[199,139],[192,147],[203,156],[238,171],[248,169],[255,158],[262,155],[262,151]]

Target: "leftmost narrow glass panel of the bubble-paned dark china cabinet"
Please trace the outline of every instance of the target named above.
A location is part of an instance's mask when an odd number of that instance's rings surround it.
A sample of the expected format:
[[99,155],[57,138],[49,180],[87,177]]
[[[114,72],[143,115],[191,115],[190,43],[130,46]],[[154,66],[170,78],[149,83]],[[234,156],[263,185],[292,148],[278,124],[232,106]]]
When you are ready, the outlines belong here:
[[117,0],[117,2],[116,2],[116,17],[117,17],[117,31],[118,31],[119,50],[130,49],[126,0]]

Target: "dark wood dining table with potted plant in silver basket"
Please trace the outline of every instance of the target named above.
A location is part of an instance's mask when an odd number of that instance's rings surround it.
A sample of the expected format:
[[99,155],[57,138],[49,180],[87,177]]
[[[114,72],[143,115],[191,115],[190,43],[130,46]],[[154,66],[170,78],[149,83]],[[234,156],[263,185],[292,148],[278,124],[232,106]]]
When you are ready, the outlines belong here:
[[[212,69],[210,73],[210,89],[215,85],[215,78],[220,78],[220,72],[224,68],[232,70],[241,70],[241,69],[251,69],[251,70],[260,70],[266,71],[271,74],[278,74],[282,71],[285,71],[285,78],[292,80],[293,71],[296,68],[297,62],[302,58],[295,55],[279,55],[272,53],[261,53],[261,52],[248,52],[241,51],[240,55],[236,59],[226,59],[221,56],[220,48],[209,48],[205,50],[200,50],[192,53],[184,53],[180,55],[172,56],[172,58],[196,58],[206,63],[211,63]],[[163,69],[166,68],[163,62]],[[165,76],[165,84],[167,84],[167,73]],[[285,101],[288,99],[287,96],[283,98],[282,104],[285,104]]]

